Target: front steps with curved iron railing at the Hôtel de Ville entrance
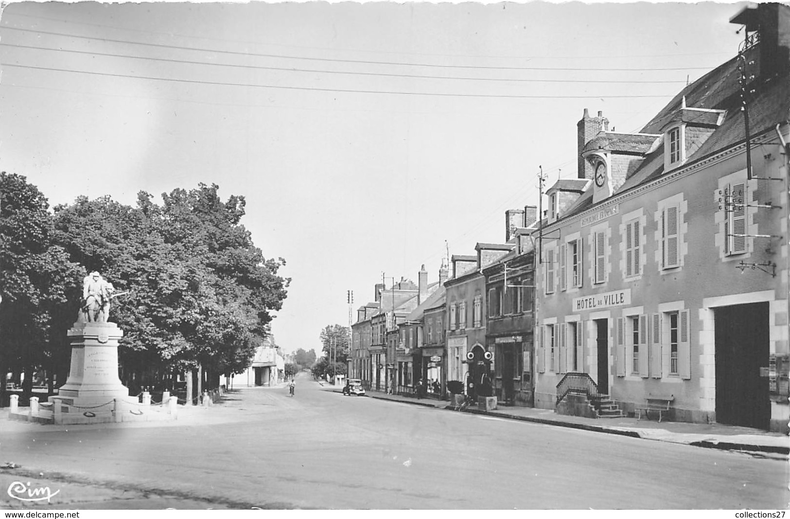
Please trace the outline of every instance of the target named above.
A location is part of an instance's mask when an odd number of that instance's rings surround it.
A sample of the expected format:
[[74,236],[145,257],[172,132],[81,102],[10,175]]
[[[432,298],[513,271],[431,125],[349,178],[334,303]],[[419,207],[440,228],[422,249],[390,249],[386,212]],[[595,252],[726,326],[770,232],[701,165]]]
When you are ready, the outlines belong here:
[[600,393],[589,374],[566,373],[557,384],[556,412],[589,418],[622,418],[623,411],[609,395]]

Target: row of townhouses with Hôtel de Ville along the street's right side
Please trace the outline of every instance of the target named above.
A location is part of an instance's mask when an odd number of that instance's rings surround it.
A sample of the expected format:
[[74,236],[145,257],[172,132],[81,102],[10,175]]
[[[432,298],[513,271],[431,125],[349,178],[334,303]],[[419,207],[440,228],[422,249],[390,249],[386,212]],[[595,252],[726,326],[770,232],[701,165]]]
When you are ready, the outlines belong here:
[[[505,215],[438,282],[375,285],[349,373],[373,390],[787,431],[790,8],[747,7],[735,58],[640,131],[577,122],[577,178]],[[473,385],[470,386],[469,383]],[[450,384],[450,388],[455,385]],[[589,406],[588,406],[589,408]]]

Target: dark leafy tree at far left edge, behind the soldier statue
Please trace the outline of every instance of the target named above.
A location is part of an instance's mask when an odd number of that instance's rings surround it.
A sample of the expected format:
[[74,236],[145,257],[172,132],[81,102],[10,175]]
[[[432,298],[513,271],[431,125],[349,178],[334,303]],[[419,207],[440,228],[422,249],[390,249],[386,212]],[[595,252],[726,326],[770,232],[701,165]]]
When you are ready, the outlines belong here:
[[76,290],[70,280],[82,271],[55,243],[49,204],[36,186],[4,171],[0,194],[0,397],[5,399],[9,370],[24,371],[29,394],[33,371],[45,367],[51,381],[63,352],[68,355],[63,323],[73,323],[77,311],[69,314],[63,307]]

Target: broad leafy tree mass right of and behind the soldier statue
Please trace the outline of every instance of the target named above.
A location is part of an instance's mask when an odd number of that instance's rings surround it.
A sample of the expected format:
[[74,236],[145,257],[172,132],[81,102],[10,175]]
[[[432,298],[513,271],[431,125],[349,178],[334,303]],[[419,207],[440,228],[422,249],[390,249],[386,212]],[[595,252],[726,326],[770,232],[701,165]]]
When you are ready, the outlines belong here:
[[111,314],[136,380],[198,367],[216,381],[242,372],[287,295],[290,280],[277,276],[284,260],[263,258],[239,224],[244,198],[222,202],[218,189],[173,190],[161,206],[141,192],[134,208],[109,197],[56,208],[71,258],[130,291]]

